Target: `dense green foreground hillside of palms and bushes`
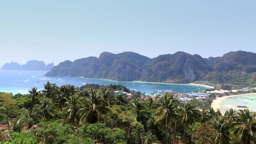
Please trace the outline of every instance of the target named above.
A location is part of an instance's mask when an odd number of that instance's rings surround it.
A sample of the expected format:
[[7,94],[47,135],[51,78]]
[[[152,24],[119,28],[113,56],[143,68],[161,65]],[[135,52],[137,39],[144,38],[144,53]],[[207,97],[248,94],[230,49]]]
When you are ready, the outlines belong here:
[[172,93],[127,99],[114,95],[120,85],[90,86],[46,83],[27,95],[0,93],[0,144],[256,142],[256,115],[248,109],[221,115],[211,102],[182,103]]

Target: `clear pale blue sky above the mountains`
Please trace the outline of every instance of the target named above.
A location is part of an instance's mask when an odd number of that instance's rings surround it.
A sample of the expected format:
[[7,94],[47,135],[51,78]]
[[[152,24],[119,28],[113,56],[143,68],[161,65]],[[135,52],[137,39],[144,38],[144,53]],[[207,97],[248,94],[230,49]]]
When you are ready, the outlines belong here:
[[1,0],[0,66],[103,51],[256,52],[255,0]]

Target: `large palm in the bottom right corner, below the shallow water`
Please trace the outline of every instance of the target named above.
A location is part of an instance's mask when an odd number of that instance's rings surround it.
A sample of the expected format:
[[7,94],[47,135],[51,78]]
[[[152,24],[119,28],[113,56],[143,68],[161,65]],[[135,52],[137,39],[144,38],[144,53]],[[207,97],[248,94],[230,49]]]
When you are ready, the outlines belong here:
[[236,136],[243,144],[256,143],[256,122],[254,117],[254,113],[251,113],[249,109],[240,109],[237,121],[232,124],[235,126]]

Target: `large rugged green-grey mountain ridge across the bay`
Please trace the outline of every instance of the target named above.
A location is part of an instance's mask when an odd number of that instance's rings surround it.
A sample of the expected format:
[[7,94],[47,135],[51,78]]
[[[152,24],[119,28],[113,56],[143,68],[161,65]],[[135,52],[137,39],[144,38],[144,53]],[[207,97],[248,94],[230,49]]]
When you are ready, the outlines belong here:
[[185,52],[150,59],[138,53],[103,52],[97,57],[64,61],[46,76],[104,78],[118,81],[190,83],[195,80],[235,85],[256,85],[256,53],[232,51],[202,58]]

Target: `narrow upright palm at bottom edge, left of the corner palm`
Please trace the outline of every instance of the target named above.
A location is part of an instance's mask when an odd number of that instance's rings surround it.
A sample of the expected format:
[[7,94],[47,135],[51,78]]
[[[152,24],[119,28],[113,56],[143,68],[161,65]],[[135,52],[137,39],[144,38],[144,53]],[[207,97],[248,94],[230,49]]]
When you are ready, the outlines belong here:
[[225,123],[224,117],[222,115],[214,117],[213,128],[217,132],[215,141],[219,144],[229,144],[229,123]]

